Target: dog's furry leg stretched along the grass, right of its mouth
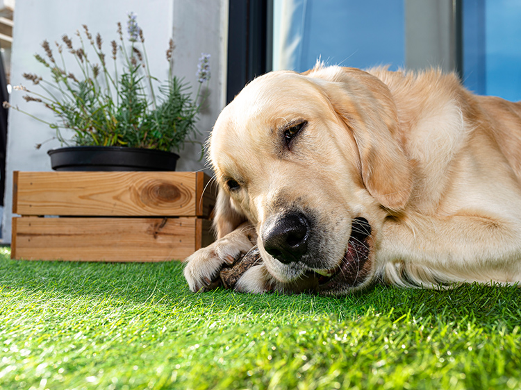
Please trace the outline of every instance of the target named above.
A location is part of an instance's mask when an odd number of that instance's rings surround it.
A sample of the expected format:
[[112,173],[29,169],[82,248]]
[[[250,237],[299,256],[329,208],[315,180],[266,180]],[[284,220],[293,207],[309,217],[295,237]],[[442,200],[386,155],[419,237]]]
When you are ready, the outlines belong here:
[[487,212],[387,219],[377,262],[383,278],[397,285],[518,282],[520,230],[517,221]]

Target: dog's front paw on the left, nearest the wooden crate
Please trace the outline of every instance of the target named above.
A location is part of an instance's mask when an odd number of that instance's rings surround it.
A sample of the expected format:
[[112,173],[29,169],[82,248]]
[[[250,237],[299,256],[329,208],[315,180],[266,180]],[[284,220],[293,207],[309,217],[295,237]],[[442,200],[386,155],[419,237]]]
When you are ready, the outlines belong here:
[[257,243],[256,229],[251,223],[242,223],[233,232],[213,244],[201,248],[184,262],[185,278],[194,292],[208,291],[219,278],[219,271],[247,253]]

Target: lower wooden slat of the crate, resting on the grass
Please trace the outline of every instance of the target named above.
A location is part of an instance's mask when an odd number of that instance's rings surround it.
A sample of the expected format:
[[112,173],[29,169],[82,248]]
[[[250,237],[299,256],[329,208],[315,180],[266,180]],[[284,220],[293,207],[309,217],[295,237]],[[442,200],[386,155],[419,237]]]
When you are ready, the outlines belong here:
[[[199,221],[199,222],[198,222]],[[13,218],[11,256],[24,260],[157,262],[183,260],[206,242],[195,217]],[[208,236],[203,222],[200,234]]]

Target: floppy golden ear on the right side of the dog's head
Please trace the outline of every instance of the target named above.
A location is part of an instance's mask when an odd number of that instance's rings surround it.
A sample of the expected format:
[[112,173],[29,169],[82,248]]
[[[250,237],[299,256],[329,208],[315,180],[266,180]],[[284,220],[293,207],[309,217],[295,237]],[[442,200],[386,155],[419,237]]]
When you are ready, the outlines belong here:
[[309,76],[329,81],[322,87],[354,135],[367,191],[384,207],[402,209],[411,196],[412,169],[402,148],[397,109],[388,87],[354,68],[319,68]]

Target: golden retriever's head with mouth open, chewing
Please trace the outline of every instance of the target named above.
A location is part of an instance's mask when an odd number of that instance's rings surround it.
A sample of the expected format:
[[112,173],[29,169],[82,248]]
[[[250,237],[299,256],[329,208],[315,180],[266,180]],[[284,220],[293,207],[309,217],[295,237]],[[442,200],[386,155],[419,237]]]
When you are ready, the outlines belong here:
[[368,285],[384,210],[411,194],[397,110],[359,69],[276,71],[249,83],[210,137],[219,237],[249,220],[272,276],[323,294]]

